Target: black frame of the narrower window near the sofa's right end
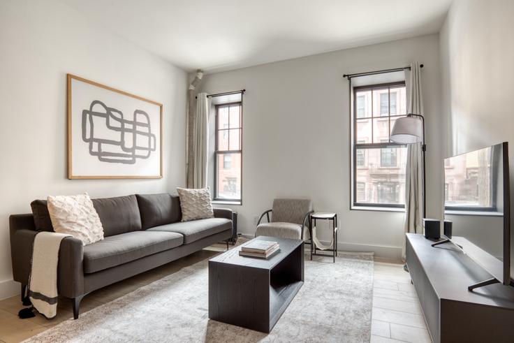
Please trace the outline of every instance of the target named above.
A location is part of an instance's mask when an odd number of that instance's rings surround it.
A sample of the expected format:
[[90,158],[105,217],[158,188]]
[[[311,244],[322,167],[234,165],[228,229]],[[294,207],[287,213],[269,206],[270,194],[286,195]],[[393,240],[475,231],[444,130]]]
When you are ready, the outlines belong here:
[[[230,106],[239,105],[240,112],[239,112],[239,126],[235,128],[230,128]],[[228,110],[228,128],[221,129],[219,127],[219,109],[220,108],[229,108]],[[232,101],[230,103],[219,103],[214,105],[214,115],[215,115],[215,129],[214,129],[214,191],[213,191],[213,197],[212,200],[214,202],[220,202],[220,203],[233,203],[234,205],[242,205],[242,198],[243,198],[243,101],[241,98],[241,101]],[[239,147],[240,149],[230,150],[230,129],[239,129]],[[219,131],[227,131],[228,134],[228,141],[227,141],[227,149],[226,150],[219,150]],[[220,154],[240,154],[240,170],[241,170],[241,176],[240,176],[240,189],[241,189],[241,196],[240,198],[220,198],[218,196],[218,156]],[[234,161],[230,161],[231,165],[234,165]]]

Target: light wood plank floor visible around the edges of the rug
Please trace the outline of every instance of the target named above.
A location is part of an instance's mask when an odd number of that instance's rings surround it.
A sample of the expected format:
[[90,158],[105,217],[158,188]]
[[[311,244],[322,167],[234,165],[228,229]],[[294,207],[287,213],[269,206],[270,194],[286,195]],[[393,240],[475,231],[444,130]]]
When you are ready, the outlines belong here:
[[[82,300],[80,310],[86,312],[115,300],[140,286],[161,279],[205,258],[211,258],[219,251],[223,251],[223,247],[217,245],[209,247],[95,291]],[[58,306],[57,317],[52,320],[44,319],[40,315],[21,320],[17,317],[17,312],[22,309],[20,296],[0,300],[0,343],[20,342],[61,323],[61,321],[73,318],[70,300],[59,299]],[[420,312],[418,298],[411,285],[409,275],[403,271],[401,264],[375,261],[371,342],[431,342],[423,315]]]

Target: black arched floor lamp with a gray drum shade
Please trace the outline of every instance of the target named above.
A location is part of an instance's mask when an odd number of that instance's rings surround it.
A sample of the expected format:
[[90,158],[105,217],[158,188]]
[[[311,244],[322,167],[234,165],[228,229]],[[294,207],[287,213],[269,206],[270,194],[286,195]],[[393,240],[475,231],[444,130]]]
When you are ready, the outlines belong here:
[[[421,120],[420,120],[420,119]],[[396,119],[395,125],[392,126],[391,140],[399,144],[416,144],[421,143],[423,154],[423,218],[427,217],[427,185],[426,185],[426,168],[425,154],[427,145],[425,145],[425,118],[423,115],[409,113],[406,117]],[[404,270],[409,272],[407,265]]]

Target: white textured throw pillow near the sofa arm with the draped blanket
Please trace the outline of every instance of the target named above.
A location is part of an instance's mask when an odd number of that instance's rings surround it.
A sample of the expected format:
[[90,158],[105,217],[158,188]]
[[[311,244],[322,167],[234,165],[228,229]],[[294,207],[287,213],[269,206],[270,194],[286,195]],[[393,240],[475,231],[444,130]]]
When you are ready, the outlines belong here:
[[54,231],[67,233],[89,245],[103,240],[103,227],[89,194],[49,196],[48,212]]

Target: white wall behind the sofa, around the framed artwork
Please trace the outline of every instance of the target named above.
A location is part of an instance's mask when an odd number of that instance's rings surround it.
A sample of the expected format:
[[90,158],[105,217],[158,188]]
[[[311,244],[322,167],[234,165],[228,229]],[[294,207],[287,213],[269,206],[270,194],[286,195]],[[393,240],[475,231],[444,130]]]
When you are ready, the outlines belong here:
[[[12,282],[8,216],[30,212],[31,200],[49,194],[88,191],[103,197],[184,186],[187,75],[59,1],[1,1],[0,45],[3,298],[19,291]],[[163,179],[66,178],[66,73],[163,103]]]

